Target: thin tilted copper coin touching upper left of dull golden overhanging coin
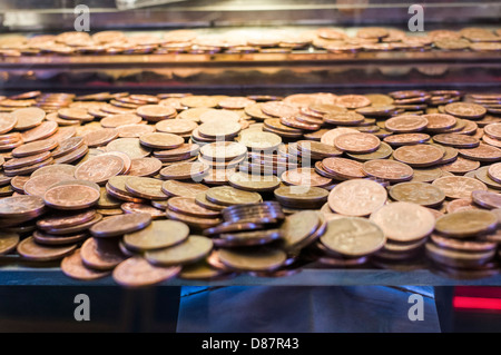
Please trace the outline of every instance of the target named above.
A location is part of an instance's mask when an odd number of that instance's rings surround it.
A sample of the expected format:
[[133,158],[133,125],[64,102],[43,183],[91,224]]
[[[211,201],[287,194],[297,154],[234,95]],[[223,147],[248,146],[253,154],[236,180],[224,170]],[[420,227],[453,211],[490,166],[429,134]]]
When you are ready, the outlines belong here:
[[115,237],[146,228],[150,223],[151,216],[148,214],[126,214],[95,224],[90,233],[99,238]]

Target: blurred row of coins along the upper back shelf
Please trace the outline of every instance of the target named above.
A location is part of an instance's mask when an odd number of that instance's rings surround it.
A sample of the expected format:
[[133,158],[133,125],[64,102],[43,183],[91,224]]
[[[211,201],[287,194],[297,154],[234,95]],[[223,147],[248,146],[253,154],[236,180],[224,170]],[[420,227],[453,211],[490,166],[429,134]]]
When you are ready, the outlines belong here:
[[197,30],[136,34],[102,31],[94,34],[63,32],[30,38],[6,36],[0,38],[0,55],[286,53],[312,47],[331,52],[431,49],[499,51],[500,46],[501,29],[485,28],[464,28],[459,31],[433,30],[425,36],[413,36],[399,29],[382,27],[318,28],[314,30],[268,29],[265,31],[247,29],[210,34],[200,33]]

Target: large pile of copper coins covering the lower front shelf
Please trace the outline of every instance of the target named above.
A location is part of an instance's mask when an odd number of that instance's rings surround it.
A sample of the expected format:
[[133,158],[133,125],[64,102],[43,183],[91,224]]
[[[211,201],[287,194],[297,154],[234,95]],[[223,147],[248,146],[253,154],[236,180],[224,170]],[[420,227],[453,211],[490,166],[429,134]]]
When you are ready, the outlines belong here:
[[304,265],[491,276],[500,103],[456,90],[6,97],[0,254],[128,286]]

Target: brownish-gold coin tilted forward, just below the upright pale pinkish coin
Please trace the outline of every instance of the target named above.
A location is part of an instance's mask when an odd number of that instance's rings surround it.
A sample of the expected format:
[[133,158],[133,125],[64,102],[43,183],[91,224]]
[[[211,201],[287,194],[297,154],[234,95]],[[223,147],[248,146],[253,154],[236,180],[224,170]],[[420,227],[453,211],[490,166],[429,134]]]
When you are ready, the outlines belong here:
[[367,219],[347,217],[331,220],[320,240],[334,253],[358,257],[381,249],[386,238],[383,230]]

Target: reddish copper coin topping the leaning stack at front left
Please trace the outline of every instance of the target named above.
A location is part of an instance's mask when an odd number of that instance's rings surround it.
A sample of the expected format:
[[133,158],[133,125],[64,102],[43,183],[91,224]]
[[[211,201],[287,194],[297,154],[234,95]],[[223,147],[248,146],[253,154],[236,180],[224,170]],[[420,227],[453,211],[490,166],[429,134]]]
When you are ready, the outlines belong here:
[[47,206],[56,209],[84,209],[96,205],[99,196],[99,191],[88,186],[63,185],[49,188],[43,200]]

